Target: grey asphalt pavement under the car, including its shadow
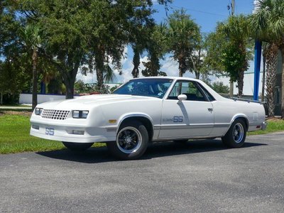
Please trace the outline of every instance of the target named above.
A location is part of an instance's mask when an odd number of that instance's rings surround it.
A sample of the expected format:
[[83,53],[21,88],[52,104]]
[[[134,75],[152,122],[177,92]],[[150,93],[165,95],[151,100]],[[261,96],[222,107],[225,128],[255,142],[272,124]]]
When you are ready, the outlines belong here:
[[141,160],[107,149],[0,155],[0,212],[284,212],[284,132],[154,143]]

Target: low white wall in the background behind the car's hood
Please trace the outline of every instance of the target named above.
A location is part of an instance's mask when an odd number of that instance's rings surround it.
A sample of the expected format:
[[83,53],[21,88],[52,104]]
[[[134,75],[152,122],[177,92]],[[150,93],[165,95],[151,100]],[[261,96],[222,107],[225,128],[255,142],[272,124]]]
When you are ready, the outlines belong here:
[[[74,96],[77,98],[79,96]],[[56,100],[65,99],[65,95],[60,94],[38,94],[38,104],[43,102],[51,102]],[[32,103],[32,94],[20,94],[19,104],[31,104]]]

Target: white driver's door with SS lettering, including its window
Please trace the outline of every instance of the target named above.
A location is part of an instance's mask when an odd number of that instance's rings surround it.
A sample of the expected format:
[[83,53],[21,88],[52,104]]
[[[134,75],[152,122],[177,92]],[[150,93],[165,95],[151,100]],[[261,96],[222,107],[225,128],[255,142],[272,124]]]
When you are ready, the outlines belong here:
[[[178,95],[186,100],[179,101]],[[209,136],[214,126],[214,109],[207,92],[195,81],[178,80],[163,100],[158,138]]]

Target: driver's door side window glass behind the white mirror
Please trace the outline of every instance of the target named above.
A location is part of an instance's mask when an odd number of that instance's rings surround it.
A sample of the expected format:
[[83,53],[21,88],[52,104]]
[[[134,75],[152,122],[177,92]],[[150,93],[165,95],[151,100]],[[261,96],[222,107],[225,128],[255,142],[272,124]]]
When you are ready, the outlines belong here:
[[197,87],[195,82],[190,81],[178,81],[175,83],[173,90],[170,92],[168,99],[178,100],[180,94],[185,94],[187,96],[187,101],[197,101],[197,102],[207,102],[206,97]]

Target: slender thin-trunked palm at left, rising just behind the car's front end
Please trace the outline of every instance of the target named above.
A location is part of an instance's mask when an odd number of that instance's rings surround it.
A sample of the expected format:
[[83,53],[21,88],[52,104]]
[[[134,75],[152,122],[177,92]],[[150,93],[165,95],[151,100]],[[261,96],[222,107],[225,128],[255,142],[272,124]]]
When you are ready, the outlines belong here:
[[22,31],[23,43],[29,53],[33,62],[33,100],[32,109],[38,104],[38,48],[42,43],[40,37],[40,28],[37,25],[28,24]]

